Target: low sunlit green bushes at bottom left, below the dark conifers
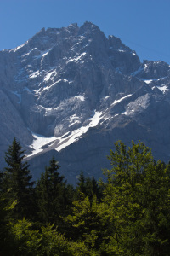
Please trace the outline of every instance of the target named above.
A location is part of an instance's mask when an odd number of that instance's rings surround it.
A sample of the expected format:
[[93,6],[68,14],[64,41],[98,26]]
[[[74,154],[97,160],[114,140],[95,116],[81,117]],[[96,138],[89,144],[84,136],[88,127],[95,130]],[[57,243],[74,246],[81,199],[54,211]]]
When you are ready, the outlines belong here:
[[68,241],[54,229],[54,225],[48,224],[40,231],[33,230],[32,223],[22,219],[14,224],[13,234],[17,245],[14,255],[72,255]]

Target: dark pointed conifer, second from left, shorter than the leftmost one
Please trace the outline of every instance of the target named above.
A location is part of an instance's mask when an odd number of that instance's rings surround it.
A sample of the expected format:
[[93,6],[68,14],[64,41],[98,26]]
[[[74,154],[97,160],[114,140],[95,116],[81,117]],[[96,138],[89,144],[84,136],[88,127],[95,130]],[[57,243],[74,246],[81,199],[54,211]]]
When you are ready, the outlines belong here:
[[66,186],[54,157],[37,182],[38,216],[42,222],[60,224],[66,207]]

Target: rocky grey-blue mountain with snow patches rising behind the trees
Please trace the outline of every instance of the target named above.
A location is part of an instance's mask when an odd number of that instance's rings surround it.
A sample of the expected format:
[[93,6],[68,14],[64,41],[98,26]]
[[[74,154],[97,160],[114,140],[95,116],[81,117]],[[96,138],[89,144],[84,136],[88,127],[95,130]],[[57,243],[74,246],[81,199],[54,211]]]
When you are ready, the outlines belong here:
[[0,52],[0,152],[16,137],[33,177],[54,155],[71,183],[101,177],[116,140],[146,143],[170,158],[170,66],[140,62],[91,22],[44,28]]

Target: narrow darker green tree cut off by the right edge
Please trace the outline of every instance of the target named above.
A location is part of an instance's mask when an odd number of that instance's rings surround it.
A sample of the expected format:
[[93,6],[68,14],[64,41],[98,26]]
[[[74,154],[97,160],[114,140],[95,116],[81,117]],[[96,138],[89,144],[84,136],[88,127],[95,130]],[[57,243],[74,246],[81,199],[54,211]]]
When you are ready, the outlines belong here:
[[141,186],[144,255],[168,255],[170,250],[170,178],[167,171],[167,166],[158,161],[144,172]]

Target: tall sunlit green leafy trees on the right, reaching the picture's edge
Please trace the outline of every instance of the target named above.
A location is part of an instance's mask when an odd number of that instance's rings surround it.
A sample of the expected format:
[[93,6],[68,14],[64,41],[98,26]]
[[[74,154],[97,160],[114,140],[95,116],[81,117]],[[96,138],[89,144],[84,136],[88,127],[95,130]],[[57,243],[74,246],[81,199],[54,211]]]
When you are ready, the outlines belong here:
[[116,251],[167,255],[170,205],[165,165],[156,164],[149,148],[140,142],[132,143],[132,148],[116,143],[109,160],[113,168],[105,171],[105,204],[113,209],[110,217],[117,232]]

